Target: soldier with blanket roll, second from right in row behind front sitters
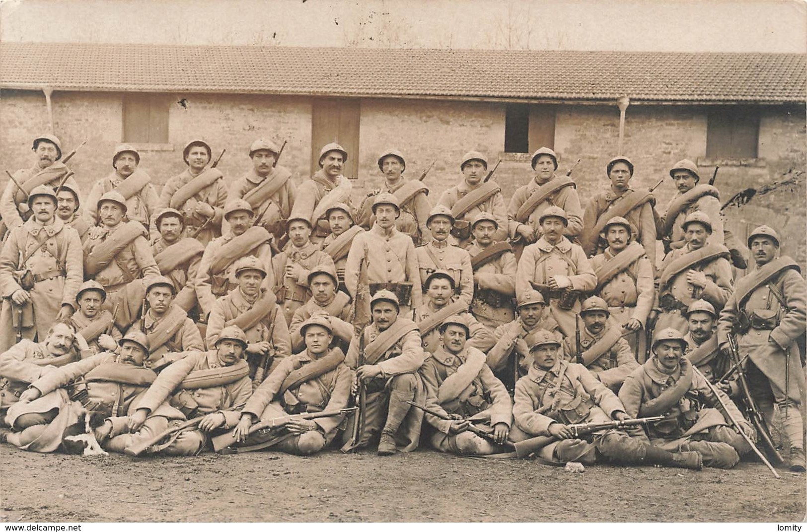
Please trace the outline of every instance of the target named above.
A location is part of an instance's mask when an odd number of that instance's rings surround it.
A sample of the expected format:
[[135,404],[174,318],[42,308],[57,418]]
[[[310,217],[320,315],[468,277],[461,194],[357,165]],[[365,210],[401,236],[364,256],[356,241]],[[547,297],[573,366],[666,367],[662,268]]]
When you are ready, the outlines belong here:
[[592,296],[583,301],[580,307],[580,318],[583,326],[580,327],[580,347],[578,353],[575,339],[568,338],[563,341],[567,353],[567,360],[582,361],[601,383],[619,392],[619,387],[630,372],[639,367],[633,358],[630,345],[622,337],[624,327],[612,320],[608,311],[608,304],[601,297]]

